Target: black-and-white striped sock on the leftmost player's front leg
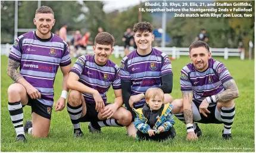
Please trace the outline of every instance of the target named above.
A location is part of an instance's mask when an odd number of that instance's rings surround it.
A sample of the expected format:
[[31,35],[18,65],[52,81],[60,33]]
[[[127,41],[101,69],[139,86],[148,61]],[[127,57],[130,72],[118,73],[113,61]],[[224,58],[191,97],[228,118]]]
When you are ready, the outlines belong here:
[[18,102],[8,102],[8,110],[10,113],[11,121],[13,122],[13,126],[15,128],[16,134],[24,135],[23,128],[23,109],[20,101]]

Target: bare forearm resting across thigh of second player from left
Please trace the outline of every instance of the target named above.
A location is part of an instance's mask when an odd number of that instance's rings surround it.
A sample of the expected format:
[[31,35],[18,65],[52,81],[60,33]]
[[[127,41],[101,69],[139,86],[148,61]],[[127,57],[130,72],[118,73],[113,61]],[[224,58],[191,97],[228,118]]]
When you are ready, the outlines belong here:
[[80,92],[85,92],[85,93],[89,93],[89,94],[94,94],[97,90],[92,89],[86,85],[83,85],[83,83],[80,83],[77,80],[67,80],[67,88],[71,89],[71,90],[77,90]]

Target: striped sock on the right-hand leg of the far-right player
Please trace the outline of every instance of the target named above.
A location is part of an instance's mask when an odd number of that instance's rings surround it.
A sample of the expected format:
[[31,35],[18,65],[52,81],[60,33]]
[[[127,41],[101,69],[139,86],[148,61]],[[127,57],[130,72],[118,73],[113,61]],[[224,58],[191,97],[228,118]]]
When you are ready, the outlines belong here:
[[223,134],[231,133],[235,113],[235,104],[230,108],[221,107],[220,118],[224,124]]

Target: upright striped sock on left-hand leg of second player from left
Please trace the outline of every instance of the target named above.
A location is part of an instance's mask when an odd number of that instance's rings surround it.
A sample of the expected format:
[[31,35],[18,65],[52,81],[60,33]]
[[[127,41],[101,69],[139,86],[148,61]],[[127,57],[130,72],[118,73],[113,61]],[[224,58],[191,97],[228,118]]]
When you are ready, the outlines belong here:
[[79,118],[81,117],[81,114],[82,114],[82,104],[79,106],[73,107],[67,103],[67,112],[68,112],[68,114],[70,116],[70,120],[73,124],[74,131],[81,130]]

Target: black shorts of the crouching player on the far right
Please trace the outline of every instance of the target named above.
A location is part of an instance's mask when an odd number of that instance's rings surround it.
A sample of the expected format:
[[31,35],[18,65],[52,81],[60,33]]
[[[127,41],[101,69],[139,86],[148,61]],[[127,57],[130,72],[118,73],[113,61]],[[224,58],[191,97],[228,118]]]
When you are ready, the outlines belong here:
[[[193,110],[193,121],[198,122],[198,123],[203,123],[203,124],[210,124],[210,123],[214,123],[214,124],[221,124],[223,123],[222,121],[218,120],[216,116],[216,113],[218,115],[220,115],[220,113],[218,113],[217,109],[217,104],[214,105],[213,107],[208,107],[207,110],[210,111],[210,113],[205,113],[207,114],[207,117],[205,117],[202,113],[199,113],[199,106],[193,104],[192,105],[192,110]],[[194,117],[195,115],[195,117]],[[201,120],[200,120],[201,117]],[[195,118],[198,118],[195,120]]]

